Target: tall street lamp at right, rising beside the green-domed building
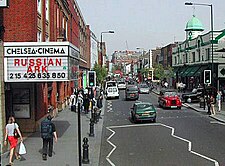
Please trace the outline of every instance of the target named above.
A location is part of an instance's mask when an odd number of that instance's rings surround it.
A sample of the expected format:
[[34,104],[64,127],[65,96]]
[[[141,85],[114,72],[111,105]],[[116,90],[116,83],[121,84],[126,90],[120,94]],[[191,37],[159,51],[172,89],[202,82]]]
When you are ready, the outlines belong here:
[[214,63],[213,63],[213,6],[212,4],[206,4],[206,3],[192,3],[192,2],[186,2],[185,5],[188,6],[193,6],[193,5],[197,5],[197,6],[208,6],[210,7],[210,11],[211,11],[211,47],[212,47],[212,65],[211,65],[211,71],[212,71],[212,86],[214,86]]

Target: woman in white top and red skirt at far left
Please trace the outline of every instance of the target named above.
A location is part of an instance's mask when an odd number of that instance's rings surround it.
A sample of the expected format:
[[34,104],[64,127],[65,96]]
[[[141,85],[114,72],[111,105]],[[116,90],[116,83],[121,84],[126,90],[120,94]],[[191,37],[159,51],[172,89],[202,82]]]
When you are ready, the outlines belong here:
[[17,160],[21,159],[21,156],[18,152],[16,152],[16,146],[18,143],[18,136],[15,136],[15,132],[17,132],[20,137],[20,141],[23,142],[23,137],[19,129],[19,125],[15,122],[15,118],[10,116],[8,120],[8,124],[5,127],[5,139],[4,145],[7,145],[7,140],[10,144],[10,154],[9,154],[9,164],[13,165],[13,156],[15,155]]

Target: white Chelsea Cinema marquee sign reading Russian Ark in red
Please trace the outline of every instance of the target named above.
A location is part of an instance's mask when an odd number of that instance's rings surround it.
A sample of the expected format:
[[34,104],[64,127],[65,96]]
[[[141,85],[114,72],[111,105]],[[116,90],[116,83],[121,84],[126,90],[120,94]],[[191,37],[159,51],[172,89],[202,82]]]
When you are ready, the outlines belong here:
[[5,82],[77,79],[79,51],[69,42],[4,43]]

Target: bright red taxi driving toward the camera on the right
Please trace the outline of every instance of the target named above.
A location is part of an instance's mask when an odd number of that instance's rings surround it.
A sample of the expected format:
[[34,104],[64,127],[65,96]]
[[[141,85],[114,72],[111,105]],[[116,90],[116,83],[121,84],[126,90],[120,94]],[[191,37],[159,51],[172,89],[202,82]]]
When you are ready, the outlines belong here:
[[177,92],[173,90],[161,90],[158,97],[159,107],[181,109],[182,102]]

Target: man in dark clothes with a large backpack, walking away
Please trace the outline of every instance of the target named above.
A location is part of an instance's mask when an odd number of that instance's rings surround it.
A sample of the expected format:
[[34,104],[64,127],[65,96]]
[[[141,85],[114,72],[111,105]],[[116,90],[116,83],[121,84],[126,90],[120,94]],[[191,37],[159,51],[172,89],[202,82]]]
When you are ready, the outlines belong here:
[[52,116],[49,113],[48,116],[41,122],[41,138],[43,140],[43,148],[42,148],[43,160],[47,160],[47,151],[48,156],[52,157],[53,137],[55,138],[55,142],[57,142],[58,137],[56,133],[56,128],[54,123],[52,122]]

